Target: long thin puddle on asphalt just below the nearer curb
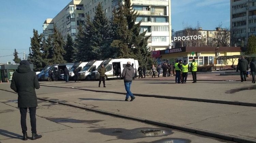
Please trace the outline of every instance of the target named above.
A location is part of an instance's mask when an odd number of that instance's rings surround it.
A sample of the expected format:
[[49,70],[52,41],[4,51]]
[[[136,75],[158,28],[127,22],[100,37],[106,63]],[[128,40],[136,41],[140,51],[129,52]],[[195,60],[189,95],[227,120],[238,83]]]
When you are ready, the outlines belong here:
[[46,118],[47,120],[50,120],[52,122],[56,123],[87,123],[87,124],[93,124],[102,122],[104,120],[77,120],[77,119],[70,119],[70,118]]

